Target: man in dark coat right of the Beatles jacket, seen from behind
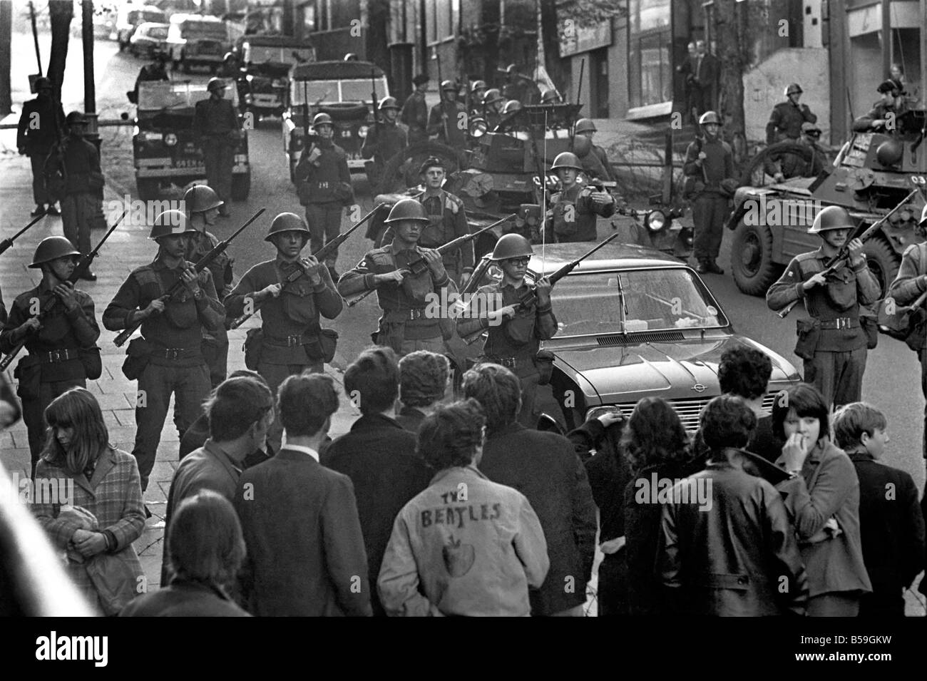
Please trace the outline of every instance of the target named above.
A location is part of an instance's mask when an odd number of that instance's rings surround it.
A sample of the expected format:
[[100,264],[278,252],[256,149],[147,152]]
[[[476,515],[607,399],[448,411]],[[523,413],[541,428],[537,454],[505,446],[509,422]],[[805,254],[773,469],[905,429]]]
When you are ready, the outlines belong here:
[[538,513],[551,569],[531,594],[531,613],[581,617],[595,558],[595,502],[589,478],[563,435],[528,430],[515,422],[520,385],[497,364],[464,374],[464,397],[486,412],[480,470],[493,482],[520,490]]

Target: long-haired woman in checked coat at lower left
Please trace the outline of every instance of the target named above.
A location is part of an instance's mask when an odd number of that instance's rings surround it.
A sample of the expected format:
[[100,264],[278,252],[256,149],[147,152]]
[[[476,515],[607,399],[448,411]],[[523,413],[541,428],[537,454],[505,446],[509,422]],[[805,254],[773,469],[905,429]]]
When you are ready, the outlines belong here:
[[[45,420],[48,439],[35,471],[35,515],[57,549],[66,551],[67,572],[90,605],[118,612],[144,590],[142,564],[132,545],[145,528],[138,465],[131,454],[108,444],[100,405],[84,388],[57,397]],[[52,484],[46,489],[63,494],[44,493],[43,481]],[[100,572],[107,574],[108,586],[98,586]]]

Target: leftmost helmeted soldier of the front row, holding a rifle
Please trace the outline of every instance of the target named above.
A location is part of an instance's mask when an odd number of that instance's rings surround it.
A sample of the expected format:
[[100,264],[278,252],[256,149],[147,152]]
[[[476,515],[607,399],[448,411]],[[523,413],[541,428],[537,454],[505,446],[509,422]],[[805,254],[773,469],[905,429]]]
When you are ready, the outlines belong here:
[[88,370],[91,378],[102,370],[94,301],[69,282],[80,256],[63,236],[46,236],[29,266],[42,271],[42,281],[16,296],[0,332],[0,351],[9,353],[23,342],[29,351],[19,359],[16,376],[32,473],[44,447],[45,407],[75,385],[86,387]]

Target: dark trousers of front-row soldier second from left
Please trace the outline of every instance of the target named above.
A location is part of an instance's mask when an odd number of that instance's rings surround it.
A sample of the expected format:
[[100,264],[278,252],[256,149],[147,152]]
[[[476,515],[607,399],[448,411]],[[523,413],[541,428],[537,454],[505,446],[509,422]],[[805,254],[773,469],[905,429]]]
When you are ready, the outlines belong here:
[[192,367],[162,366],[149,363],[138,377],[138,397],[135,405],[135,448],[142,477],[142,491],[148,486],[148,476],[155,467],[161,428],[174,396],[174,425],[183,437],[190,424],[202,411],[203,400],[210,394],[210,370],[206,363]]

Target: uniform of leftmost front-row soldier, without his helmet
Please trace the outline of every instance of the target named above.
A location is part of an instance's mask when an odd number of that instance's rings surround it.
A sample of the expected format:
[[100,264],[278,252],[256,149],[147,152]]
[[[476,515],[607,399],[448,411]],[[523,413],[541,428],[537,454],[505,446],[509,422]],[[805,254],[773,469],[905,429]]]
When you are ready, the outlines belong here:
[[[0,351],[11,352],[21,340],[26,341],[29,351],[28,356],[19,360],[15,375],[19,379],[17,395],[22,400],[22,418],[29,431],[33,469],[45,443],[45,407],[74,386],[86,387],[84,361],[94,361],[91,356],[98,352],[81,352],[95,347],[100,337],[94,300],[80,289],[74,289],[74,296],[78,307],[69,311],[58,296],[39,284],[16,297],[9,310],[9,319],[0,332]],[[38,312],[33,307],[34,301],[39,303]],[[13,332],[49,306],[54,307],[42,320],[42,328],[14,341]],[[96,358],[98,362],[98,355]]]

